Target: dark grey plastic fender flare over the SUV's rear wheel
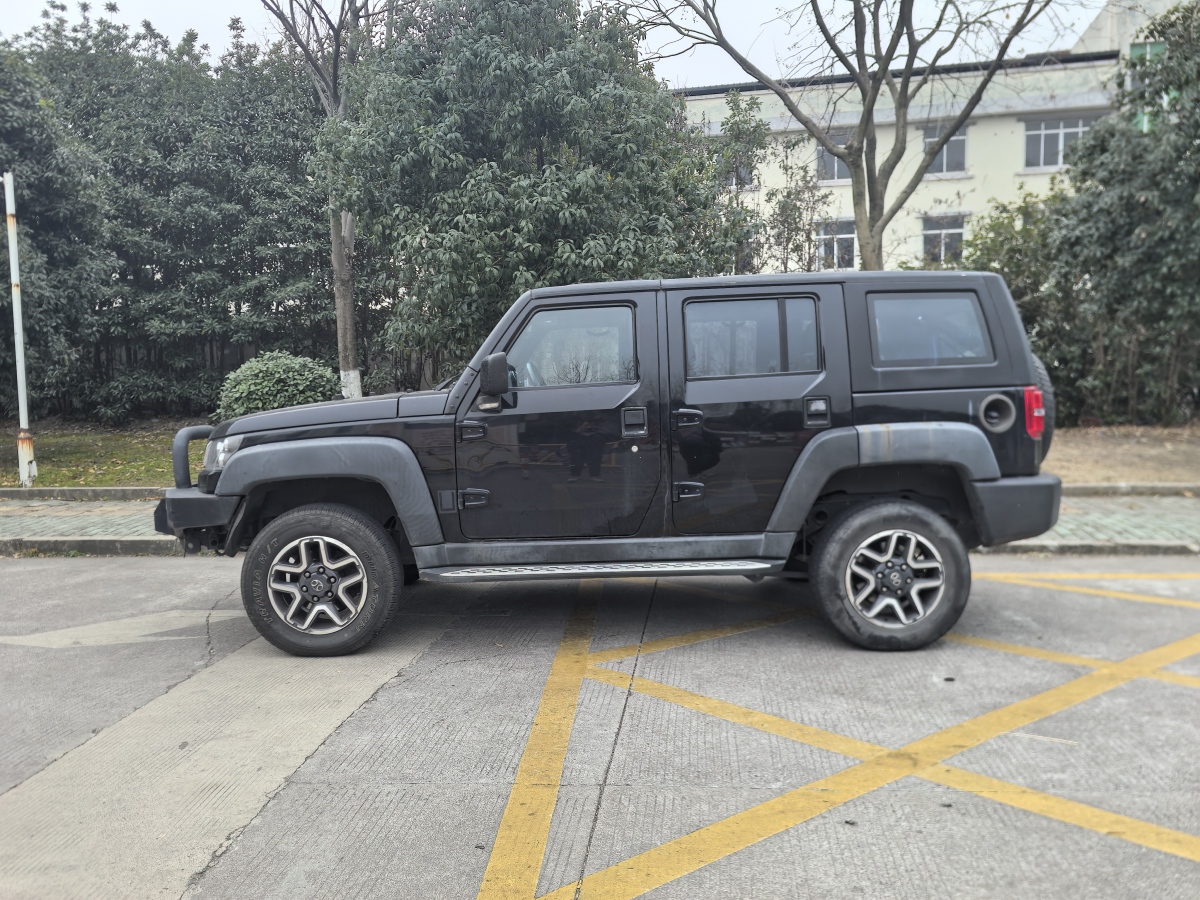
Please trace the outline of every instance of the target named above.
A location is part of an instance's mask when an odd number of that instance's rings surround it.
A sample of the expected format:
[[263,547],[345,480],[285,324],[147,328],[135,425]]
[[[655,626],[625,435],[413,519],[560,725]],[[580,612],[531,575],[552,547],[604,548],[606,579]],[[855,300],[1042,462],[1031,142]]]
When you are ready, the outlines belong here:
[[808,443],[784,482],[768,532],[799,532],[821,488],[838,472],[858,466],[936,463],[964,479],[995,481],[1000,466],[988,437],[965,422],[898,422],[833,428]]

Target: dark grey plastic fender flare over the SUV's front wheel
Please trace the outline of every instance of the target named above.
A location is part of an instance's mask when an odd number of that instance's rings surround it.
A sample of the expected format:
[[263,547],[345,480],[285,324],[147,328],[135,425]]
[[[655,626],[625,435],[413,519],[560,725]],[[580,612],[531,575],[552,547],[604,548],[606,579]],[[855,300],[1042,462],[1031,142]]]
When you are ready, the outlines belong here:
[[392,438],[310,438],[247,446],[230,457],[216,492],[245,497],[262,485],[305,478],[374,481],[391,498],[410,545],[444,540],[416,455]]

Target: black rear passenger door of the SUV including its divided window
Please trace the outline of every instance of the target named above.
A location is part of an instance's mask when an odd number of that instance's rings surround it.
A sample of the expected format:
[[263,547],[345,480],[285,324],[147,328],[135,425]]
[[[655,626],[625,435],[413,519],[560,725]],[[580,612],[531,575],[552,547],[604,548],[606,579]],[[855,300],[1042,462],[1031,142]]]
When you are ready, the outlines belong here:
[[840,284],[667,293],[672,515],[762,532],[818,432],[852,424]]

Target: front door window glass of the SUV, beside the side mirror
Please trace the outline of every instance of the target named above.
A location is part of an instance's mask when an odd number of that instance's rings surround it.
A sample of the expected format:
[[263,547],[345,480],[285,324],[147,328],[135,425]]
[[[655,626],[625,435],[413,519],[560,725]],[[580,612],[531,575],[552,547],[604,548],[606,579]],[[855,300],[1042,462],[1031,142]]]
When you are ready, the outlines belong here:
[[634,311],[628,306],[542,310],[508,355],[517,388],[636,382]]

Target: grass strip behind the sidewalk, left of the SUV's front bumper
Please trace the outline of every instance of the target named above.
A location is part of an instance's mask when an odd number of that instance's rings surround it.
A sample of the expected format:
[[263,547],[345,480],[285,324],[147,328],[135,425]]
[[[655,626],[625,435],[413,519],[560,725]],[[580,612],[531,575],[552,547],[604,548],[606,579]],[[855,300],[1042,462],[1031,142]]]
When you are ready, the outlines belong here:
[[[35,487],[169,487],[174,484],[170,442],[202,419],[151,419],[120,428],[85,422],[34,422]],[[0,487],[16,487],[17,422],[0,424]],[[192,475],[199,472],[204,442],[191,446]]]

